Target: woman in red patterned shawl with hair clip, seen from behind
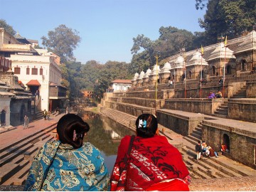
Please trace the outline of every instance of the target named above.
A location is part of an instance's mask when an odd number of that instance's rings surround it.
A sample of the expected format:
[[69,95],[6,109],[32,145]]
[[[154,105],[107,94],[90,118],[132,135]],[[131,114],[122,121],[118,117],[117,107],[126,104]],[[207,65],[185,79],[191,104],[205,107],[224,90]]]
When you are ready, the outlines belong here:
[[188,169],[178,149],[158,135],[156,117],[141,114],[136,127],[137,137],[130,153],[127,151],[132,137],[125,136],[119,145],[110,178],[111,191],[189,191]]

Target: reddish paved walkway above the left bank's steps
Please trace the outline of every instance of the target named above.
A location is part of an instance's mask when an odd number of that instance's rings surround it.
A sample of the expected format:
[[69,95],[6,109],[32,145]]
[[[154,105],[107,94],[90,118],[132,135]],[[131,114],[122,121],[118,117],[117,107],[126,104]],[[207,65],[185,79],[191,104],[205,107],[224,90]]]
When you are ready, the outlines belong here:
[[[55,114],[50,115],[50,120],[48,119],[38,119],[34,122],[28,124],[28,129],[23,129],[23,125],[16,127],[0,128],[0,151],[1,149],[10,146],[14,142],[18,142],[23,138],[29,137],[36,132],[45,129],[46,127],[55,126],[58,123],[60,117],[63,117],[63,114],[58,114],[55,117]],[[8,130],[9,129],[9,130]]]

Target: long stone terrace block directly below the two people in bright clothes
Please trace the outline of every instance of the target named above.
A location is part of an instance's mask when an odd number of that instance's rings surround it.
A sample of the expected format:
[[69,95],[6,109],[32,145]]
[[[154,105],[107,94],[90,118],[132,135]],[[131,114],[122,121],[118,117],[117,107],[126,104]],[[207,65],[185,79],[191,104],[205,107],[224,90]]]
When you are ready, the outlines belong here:
[[196,112],[203,114],[213,114],[221,105],[223,98],[220,99],[170,99],[165,100],[164,108],[169,110],[181,110],[185,112]]

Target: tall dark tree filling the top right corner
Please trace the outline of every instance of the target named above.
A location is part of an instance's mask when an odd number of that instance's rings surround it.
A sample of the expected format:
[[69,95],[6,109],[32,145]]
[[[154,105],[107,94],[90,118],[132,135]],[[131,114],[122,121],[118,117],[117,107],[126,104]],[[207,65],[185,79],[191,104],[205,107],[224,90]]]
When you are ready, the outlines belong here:
[[206,45],[217,43],[220,36],[237,38],[255,25],[255,0],[196,0],[196,9],[204,7],[206,14],[199,24],[205,28]]

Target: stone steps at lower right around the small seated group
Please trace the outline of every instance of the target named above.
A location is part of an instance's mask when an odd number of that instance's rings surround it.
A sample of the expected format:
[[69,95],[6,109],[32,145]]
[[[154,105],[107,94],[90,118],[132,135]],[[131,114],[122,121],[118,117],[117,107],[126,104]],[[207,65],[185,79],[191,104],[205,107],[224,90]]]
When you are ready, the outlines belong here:
[[256,174],[256,171],[250,167],[235,166],[235,161],[228,159],[228,157],[223,155],[219,156],[219,158],[201,156],[201,160],[196,161],[195,146],[198,144],[198,140],[202,139],[201,127],[202,125],[200,123],[193,129],[191,134],[187,137],[183,137],[181,154],[192,178],[227,178]]

